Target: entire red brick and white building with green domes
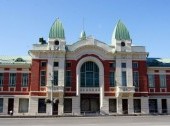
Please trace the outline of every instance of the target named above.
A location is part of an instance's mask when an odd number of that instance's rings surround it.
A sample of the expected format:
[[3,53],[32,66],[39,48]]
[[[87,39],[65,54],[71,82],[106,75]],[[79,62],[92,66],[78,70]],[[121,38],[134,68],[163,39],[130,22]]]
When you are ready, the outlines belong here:
[[169,114],[170,59],[148,58],[118,21],[108,45],[82,31],[72,45],[57,19],[29,56],[0,56],[0,114]]

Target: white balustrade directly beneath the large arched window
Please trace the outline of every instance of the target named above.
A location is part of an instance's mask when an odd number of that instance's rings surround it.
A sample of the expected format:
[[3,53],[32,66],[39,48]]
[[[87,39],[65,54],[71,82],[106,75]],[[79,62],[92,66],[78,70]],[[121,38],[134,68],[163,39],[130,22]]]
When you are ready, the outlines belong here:
[[100,93],[99,87],[80,87],[80,93]]

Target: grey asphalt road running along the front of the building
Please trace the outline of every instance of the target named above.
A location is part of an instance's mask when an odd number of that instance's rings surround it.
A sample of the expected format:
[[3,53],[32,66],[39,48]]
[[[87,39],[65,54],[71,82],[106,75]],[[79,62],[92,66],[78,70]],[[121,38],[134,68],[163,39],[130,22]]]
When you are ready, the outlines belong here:
[[0,126],[170,126],[170,116],[0,118]]

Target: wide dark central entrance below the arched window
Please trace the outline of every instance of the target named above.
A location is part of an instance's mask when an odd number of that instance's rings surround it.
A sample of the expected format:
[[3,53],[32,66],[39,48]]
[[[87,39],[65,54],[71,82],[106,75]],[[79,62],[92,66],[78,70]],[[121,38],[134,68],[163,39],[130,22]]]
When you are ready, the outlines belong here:
[[81,94],[81,113],[97,113],[99,106],[99,94]]

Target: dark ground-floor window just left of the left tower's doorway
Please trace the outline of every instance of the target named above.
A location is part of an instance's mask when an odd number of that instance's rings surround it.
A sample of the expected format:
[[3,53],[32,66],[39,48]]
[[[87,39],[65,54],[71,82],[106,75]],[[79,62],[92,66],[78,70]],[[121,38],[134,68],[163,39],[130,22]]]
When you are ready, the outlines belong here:
[[45,99],[38,99],[38,113],[46,113]]

